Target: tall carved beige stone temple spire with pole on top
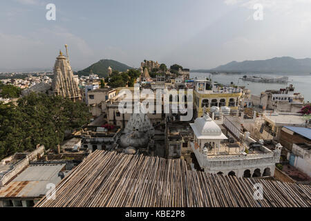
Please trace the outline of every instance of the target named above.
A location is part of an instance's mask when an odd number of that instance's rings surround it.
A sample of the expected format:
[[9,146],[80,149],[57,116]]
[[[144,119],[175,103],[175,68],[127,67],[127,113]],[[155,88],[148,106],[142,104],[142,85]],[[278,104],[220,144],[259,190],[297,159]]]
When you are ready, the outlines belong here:
[[67,45],[66,56],[63,55],[62,51],[59,51],[59,56],[56,58],[52,90],[54,95],[68,97],[73,101],[80,100],[82,97],[78,79],[75,79],[70,66]]

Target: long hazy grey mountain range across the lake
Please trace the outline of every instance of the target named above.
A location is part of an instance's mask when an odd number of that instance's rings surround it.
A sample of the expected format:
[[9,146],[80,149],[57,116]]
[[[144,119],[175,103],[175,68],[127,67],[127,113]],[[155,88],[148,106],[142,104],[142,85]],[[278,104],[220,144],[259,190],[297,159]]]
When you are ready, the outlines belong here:
[[192,72],[229,72],[229,73],[311,73],[311,59],[292,57],[274,57],[267,60],[232,61],[210,70],[191,70]]

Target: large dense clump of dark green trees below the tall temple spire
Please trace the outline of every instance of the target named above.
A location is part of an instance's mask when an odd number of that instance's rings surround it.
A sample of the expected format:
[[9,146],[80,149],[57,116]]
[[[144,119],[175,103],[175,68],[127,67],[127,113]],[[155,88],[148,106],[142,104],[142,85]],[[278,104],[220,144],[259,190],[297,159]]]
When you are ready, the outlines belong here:
[[44,93],[30,93],[17,106],[0,104],[0,159],[32,151],[37,144],[55,149],[64,141],[65,131],[82,128],[90,119],[84,103]]

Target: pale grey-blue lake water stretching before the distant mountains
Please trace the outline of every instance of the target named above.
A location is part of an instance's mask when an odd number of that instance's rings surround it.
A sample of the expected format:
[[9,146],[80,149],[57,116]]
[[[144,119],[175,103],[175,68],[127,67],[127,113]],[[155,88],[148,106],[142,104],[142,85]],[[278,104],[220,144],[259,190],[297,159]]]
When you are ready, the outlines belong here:
[[251,90],[252,95],[260,95],[261,92],[265,90],[279,90],[280,88],[286,88],[286,86],[292,84],[295,88],[295,93],[301,93],[305,97],[305,102],[311,102],[311,75],[256,75],[257,77],[286,76],[288,77],[288,84],[243,81],[240,78],[244,75],[211,75],[210,73],[190,73],[190,78],[211,77],[212,81],[217,81],[221,84],[230,84],[231,82],[234,82],[234,84],[238,86],[245,86],[247,89]]

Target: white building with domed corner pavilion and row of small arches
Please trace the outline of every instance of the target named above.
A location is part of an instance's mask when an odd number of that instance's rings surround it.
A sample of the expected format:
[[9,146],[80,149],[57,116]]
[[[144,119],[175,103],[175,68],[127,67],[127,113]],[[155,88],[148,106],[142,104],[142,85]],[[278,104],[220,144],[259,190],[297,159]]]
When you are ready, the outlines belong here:
[[[242,135],[241,142],[229,140],[209,115],[198,117],[190,124],[194,131],[191,143],[198,164],[207,173],[236,175],[237,177],[273,176],[279,162],[281,144],[274,151],[256,143],[249,134]],[[251,142],[256,143],[249,148]]]

